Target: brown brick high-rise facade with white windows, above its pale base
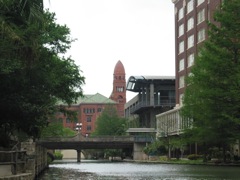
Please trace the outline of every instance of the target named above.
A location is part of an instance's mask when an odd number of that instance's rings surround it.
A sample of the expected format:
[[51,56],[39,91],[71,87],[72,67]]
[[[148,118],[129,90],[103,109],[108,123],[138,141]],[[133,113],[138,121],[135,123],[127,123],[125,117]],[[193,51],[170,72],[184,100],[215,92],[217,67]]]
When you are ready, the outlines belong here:
[[213,22],[214,10],[222,0],[172,0],[175,6],[176,104],[182,104],[199,47],[208,37],[207,22]]

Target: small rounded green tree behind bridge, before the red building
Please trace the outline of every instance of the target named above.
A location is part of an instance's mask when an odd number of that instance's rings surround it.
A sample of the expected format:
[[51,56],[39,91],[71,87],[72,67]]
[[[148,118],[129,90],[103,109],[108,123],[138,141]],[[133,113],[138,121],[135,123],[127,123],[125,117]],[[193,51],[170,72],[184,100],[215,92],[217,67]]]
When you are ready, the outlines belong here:
[[124,135],[126,132],[125,118],[117,115],[117,110],[112,105],[107,105],[101,115],[97,118],[95,135]]

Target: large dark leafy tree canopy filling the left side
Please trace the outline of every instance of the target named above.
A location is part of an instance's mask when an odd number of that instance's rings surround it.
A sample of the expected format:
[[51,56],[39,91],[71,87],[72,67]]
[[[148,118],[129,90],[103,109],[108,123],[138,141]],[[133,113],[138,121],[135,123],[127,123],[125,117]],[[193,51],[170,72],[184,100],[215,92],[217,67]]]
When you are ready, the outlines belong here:
[[80,68],[63,56],[74,40],[41,0],[0,1],[0,9],[0,137],[39,137],[57,101],[83,95]]

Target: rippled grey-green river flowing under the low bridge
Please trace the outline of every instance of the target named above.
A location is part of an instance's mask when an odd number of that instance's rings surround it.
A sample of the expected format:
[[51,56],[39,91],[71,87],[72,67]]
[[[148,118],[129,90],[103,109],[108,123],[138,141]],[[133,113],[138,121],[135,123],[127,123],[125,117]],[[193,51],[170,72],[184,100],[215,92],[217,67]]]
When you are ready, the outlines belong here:
[[227,180],[240,167],[82,160],[56,161],[37,180]]

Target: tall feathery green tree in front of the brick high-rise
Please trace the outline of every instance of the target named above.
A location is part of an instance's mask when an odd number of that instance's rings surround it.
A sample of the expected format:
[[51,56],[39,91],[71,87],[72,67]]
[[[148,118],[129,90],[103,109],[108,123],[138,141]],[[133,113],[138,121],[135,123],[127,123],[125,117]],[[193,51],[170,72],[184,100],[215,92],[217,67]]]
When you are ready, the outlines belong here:
[[[222,3],[209,23],[209,38],[200,48],[187,78],[182,115],[193,119],[192,138],[204,147],[226,148],[240,130],[240,1]],[[224,156],[225,160],[225,156]]]

